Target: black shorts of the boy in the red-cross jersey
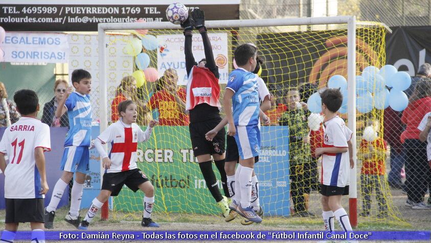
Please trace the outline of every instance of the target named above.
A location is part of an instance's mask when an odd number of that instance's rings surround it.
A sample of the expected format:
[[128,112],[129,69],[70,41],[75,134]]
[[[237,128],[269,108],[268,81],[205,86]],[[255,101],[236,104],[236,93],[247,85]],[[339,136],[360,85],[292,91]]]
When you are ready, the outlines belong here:
[[111,191],[111,196],[117,196],[123,185],[136,192],[139,185],[147,182],[148,178],[140,169],[132,169],[115,173],[104,173],[102,190]]

